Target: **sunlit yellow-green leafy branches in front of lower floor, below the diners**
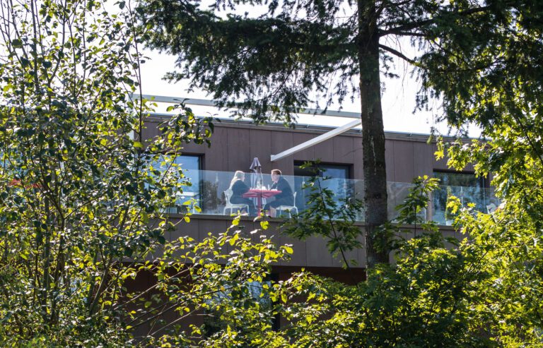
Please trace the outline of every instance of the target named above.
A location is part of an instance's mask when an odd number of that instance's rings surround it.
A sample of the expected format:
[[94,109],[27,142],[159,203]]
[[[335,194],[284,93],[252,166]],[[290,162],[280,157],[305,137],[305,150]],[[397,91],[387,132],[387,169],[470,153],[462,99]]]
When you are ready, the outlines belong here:
[[[276,246],[259,232],[243,232],[238,216],[226,233],[210,234],[202,242],[180,237],[164,246],[162,257],[139,265],[138,272],[151,272],[156,284],[118,305],[145,301],[145,306],[130,312],[132,320],[127,323],[132,330],[150,326],[144,336],[136,337],[141,339],[138,343],[247,347],[271,332],[276,309],[264,298],[271,286],[266,280],[271,265],[288,259],[292,249]],[[257,233],[259,241],[252,241]],[[196,316],[211,320],[197,324]],[[192,323],[190,329],[188,323]]]

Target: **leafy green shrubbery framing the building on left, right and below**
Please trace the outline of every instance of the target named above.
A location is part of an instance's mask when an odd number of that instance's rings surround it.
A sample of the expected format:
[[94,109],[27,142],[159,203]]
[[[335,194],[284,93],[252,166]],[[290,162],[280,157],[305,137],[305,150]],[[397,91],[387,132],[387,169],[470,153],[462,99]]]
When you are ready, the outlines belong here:
[[[265,237],[255,243],[238,229],[239,219],[201,243],[166,241],[174,225],[163,208],[176,204],[185,184],[173,157],[187,141],[208,140],[212,126],[182,108],[160,126],[158,138],[144,141],[146,103],[126,99],[139,86],[141,63],[141,32],[129,4],[119,2],[115,16],[100,1],[1,6],[2,346],[543,344],[540,85],[503,76],[500,113],[479,120],[489,141],[440,148],[438,155],[447,148],[452,167],[474,162],[478,175],[492,172],[503,200],[491,215],[450,202],[465,239],[445,240],[435,224],[421,220],[436,186],[421,178],[399,207],[399,221],[375,232],[373,240],[383,241],[375,247],[392,249],[395,263],[368,269],[356,285],[309,272],[271,282],[270,265],[293,251]],[[539,76],[541,56],[526,57]],[[477,112],[458,117],[478,121]],[[169,169],[156,170],[157,162]],[[318,234],[339,256],[363,247],[350,224],[360,203],[334,206],[331,193],[313,188],[311,209],[288,232]],[[341,220],[315,218],[337,215]],[[402,239],[411,236],[397,227],[402,223],[421,233]],[[141,261],[154,252],[163,256]],[[142,272],[152,272],[156,284],[127,292],[127,282]],[[165,320],[171,312],[177,320]],[[184,329],[182,320],[194,314],[212,320]],[[278,315],[288,323],[274,330]],[[151,330],[140,330],[149,323]]]

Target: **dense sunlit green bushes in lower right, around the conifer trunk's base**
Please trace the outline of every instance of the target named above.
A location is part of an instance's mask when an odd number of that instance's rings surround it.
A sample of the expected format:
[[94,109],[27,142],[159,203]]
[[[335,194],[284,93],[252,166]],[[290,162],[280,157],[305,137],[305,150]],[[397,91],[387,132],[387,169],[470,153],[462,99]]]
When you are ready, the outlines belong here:
[[416,180],[390,226],[396,263],[369,270],[365,282],[347,285],[303,271],[270,287],[286,325],[254,345],[539,347],[539,222],[518,206],[488,215],[452,201],[466,237],[444,238],[416,213],[436,186],[436,179]]

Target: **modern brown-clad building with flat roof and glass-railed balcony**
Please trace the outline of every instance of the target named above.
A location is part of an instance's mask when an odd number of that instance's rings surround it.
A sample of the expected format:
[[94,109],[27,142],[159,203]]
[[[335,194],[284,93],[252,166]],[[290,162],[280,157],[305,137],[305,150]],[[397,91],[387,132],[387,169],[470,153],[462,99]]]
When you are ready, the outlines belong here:
[[[157,97],[163,102],[177,102],[173,98]],[[196,100],[196,104],[211,103]],[[187,102],[190,104],[190,101]],[[356,114],[346,112],[328,112],[331,116],[356,117]],[[146,123],[144,138],[158,134],[158,124],[164,121],[165,114],[153,114]],[[355,122],[356,124],[356,122]],[[350,127],[349,127],[350,128]],[[229,207],[225,191],[230,185],[235,171],[241,170],[246,174],[247,186],[257,185],[255,174],[251,174],[250,166],[258,158],[262,169],[264,186],[271,185],[269,173],[271,169],[280,169],[293,191],[296,193],[296,210],[305,208],[305,195],[303,184],[308,181],[311,174],[308,169],[300,166],[306,161],[320,160],[320,169],[325,172],[322,176],[331,179],[322,181],[322,184],[334,191],[337,201],[342,198],[363,198],[363,155],[362,137],[360,129],[352,128],[335,136],[326,136],[337,131],[332,126],[299,125],[296,128],[286,128],[281,124],[268,124],[256,126],[250,121],[233,121],[222,119],[215,124],[215,131],[211,137],[211,146],[191,143],[185,147],[177,162],[182,163],[192,186],[185,190],[184,199],[192,199],[202,208],[201,212],[194,210],[189,224],[180,224],[175,235],[190,235],[194,239],[203,239],[209,232],[223,232],[228,226],[233,210]],[[315,138],[325,138],[320,142]],[[388,181],[389,217],[394,218],[395,207],[402,203],[407,196],[411,181],[417,176],[434,176],[441,179],[443,186],[433,193],[433,197],[426,210],[426,217],[438,222],[444,234],[455,236],[450,227],[451,220],[445,209],[448,195],[454,195],[462,203],[475,203],[476,208],[486,211],[492,204],[496,204],[489,188],[489,180],[477,178],[473,168],[467,167],[462,172],[448,169],[446,159],[436,160],[436,144],[428,142],[428,135],[410,133],[385,133],[386,137],[386,164]],[[312,143],[313,142],[313,143]],[[296,151],[296,147],[303,150]],[[293,150],[294,148],[294,150]],[[278,155],[279,154],[279,155]],[[276,158],[281,157],[279,160]],[[257,205],[257,200],[255,200]],[[487,206],[489,208],[487,208]],[[288,214],[288,211],[283,212]],[[363,213],[362,213],[363,214]],[[175,218],[175,212],[172,217]],[[363,215],[361,215],[361,229],[363,229]],[[284,270],[287,274],[293,268],[309,268],[318,270],[326,275],[341,277],[339,269],[341,263],[334,260],[326,249],[325,241],[314,238],[308,241],[296,241],[274,230],[281,219],[272,223],[268,234],[282,244],[293,244],[293,258],[277,272],[281,277]],[[252,217],[244,219],[247,229],[258,228],[258,223],[252,222]],[[364,268],[364,251],[356,251],[350,258],[358,260],[358,268]]]

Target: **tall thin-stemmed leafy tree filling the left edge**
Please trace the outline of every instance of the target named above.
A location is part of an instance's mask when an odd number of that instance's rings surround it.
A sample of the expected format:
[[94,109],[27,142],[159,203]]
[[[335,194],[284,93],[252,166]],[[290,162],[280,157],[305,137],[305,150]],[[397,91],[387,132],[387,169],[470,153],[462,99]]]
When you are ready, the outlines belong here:
[[124,340],[107,306],[132,270],[122,258],[170,228],[149,216],[175,203],[182,173],[157,176],[160,153],[141,151],[145,106],[126,99],[139,54],[123,18],[100,1],[1,4],[3,344]]

